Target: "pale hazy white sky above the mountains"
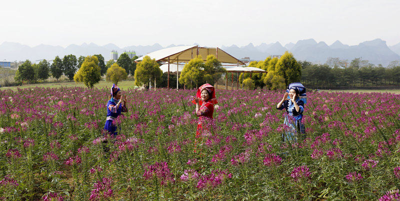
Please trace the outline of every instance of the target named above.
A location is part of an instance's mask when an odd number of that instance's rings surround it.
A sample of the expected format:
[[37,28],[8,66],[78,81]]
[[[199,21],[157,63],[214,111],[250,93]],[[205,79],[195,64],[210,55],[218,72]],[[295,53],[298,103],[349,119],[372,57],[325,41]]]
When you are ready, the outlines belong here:
[[400,0],[3,0],[0,44],[400,42]]

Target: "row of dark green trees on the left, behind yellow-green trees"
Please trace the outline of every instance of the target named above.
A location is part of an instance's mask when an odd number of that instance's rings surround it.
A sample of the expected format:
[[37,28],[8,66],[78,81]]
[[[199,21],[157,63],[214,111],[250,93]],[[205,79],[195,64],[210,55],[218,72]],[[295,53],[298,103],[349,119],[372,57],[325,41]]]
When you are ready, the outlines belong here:
[[[100,67],[100,76],[106,74],[107,69],[114,64],[114,60],[108,60],[105,64],[104,57],[101,54],[94,54],[93,56],[97,58],[97,65]],[[129,58],[127,53],[122,53],[116,60],[116,64],[125,69],[127,74],[133,74],[136,69],[136,63],[134,62],[136,58],[137,56]],[[45,59],[41,60],[38,64],[32,64],[29,60],[26,60],[23,64],[19,65],[15,73],[15,80],[18,82],[35,83],[38,80],[46,80],[51,75],[58,81],[62,74],[67,76],[69,80],[73,80],[76,71],[81,67],[84,59],[84,56],[76,58],[75,55],[69,54],[63,58],[56,56],[51,64]]]

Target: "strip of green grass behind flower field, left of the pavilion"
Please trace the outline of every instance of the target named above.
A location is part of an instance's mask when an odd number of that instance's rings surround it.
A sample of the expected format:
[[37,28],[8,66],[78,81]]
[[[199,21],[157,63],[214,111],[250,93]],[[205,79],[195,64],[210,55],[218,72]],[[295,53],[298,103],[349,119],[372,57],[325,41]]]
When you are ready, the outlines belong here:
[[[102,87],[110,87],[111,85],[112,85],[111,82],[101,80],[98,83],[94,84],[94,87],[102,88]],[[129,87],[134,86],[134,81],[133,80],[119,81],[117,85],[122,89],[127,89]],[[0,90],[5,90],[5,89],[16,90],[17,88],[29,88],[29,87],[57,88],[57,87],[75,87],[75,86],[86,87],[83,83],[75,83],[74,81],[65,81],[65,82],[36,83],[36,84],[23,84],[21,86],[0,87]]]

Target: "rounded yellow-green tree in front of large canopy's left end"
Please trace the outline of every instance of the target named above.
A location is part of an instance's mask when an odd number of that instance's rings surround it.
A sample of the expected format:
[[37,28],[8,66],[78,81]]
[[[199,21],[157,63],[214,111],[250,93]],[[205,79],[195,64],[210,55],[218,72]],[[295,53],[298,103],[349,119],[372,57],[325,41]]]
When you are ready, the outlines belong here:
[[134,84],[136,86],[144,85],[149,88],[149,82],[161,82],[162,71],[155,59],[149,56],[144,56],[143,60],[137,63],[136,70],[134,71]]

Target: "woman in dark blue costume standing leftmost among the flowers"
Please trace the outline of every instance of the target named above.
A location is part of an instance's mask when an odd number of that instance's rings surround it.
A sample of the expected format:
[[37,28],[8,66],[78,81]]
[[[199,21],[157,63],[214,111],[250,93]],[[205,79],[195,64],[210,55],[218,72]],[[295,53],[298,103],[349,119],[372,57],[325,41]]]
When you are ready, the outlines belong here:
[[[128,111],[126,108],[126,96],[123,97],[122,91],[118,86],[112,84],[110,99],[107,102],[107,118],[105,120],[104,129],[112,135],[116,135],[116,125],[113,123],[114,119],[118,117],[121,112]],[[123,98],[123,100],[122,100]]]

